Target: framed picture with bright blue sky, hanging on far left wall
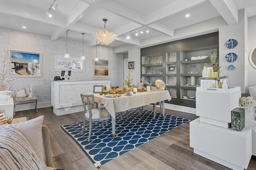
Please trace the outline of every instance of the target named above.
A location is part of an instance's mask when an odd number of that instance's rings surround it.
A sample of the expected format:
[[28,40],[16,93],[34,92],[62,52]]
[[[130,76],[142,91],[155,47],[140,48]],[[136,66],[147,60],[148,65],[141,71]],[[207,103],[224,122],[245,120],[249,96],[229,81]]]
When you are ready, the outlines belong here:
[[41,77],[41,53],[10,50],[10,69],[14,77]]

